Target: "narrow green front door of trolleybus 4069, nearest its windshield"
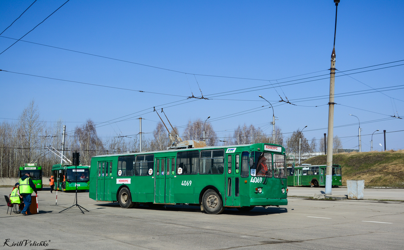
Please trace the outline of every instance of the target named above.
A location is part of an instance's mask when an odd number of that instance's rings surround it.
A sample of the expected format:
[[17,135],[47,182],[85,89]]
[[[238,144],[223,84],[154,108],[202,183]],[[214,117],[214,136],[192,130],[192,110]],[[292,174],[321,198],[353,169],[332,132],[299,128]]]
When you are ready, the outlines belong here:
[[240,155],[226,154],[225,206],[240,206]]

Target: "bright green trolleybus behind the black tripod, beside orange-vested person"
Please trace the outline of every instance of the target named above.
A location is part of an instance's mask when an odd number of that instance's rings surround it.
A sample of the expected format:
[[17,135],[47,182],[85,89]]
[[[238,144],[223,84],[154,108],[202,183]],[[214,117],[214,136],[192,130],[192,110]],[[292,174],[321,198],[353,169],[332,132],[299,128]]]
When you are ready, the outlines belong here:
[[[77,182],[76,182],[77,174]],[[53,180],[55,180],[55,190],[69,191],[69,190],[88,190],[89,183],[89,166],[76,166],[55,164],[52,166]],[[65,183],[63,182],[65,179]]]

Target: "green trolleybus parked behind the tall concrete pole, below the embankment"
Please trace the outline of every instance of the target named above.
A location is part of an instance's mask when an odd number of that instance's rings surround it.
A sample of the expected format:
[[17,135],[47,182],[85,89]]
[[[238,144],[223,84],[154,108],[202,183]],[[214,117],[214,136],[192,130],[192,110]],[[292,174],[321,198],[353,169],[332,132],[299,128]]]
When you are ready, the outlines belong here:
[[[326,185],[326,165],[302,164],[288,167],[288,186],[319,187]],[[332,186],[342,185],[341,165],[332,165]]]

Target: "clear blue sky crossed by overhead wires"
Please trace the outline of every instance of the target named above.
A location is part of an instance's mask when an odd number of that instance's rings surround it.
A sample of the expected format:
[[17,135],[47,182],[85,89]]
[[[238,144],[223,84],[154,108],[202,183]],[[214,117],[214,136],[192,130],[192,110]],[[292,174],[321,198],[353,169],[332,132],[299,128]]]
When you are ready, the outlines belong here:
[[[1,1],[0,32],[32,2],[33,0]],[[20,38],[64,2],[38,0],[2,36]],[[344,71],[404,60],[402,13],[402,1],[342,0],[338,9],[336,68]],[[70,0],[23,40],[188,74],[23,41],[17,42],[0,55],[0,69],[179,96],[140,93],[0,72],[0,117],[17,119],[32,99],[38,104],[43,120],[54,122],[62,119],[66,122],[68,131],[88,118],[95,122],[105,122],[122,116],[133,117],[100,126],[97,131],[106,139],[117,133],[137,134],[139,122],[135,118],[139,115],[147,119],[143,120],[143,132],[151,132],[156,126],[154,121],[158,120],[158,116],[151,112],[152,107],[156,106],[165,107],[168,118],[176,126],[185,125],[189,118],[205,120],[211,116],[210,120],[218,136],[225,136],[244,123],[261,124],[257,126],[270,134],[268,122],[271,121],[272,111],[259,108],[267,105],[258,97],[262,95],[274,105],[275,116],[279,119],[276,125],[283,132],[293,132],[307,125],[305,136],[308,139],[319,139],[327,132],[320,128],[327,127],[328,105],[324,104],[328,103],[328,98],[318,99],[322,98],[318,96],[326,97],[329,91],[327,69],[330,68],[334,22],[335,5],[331,0],[113,3]],[[0,37],[0,50],[5,50],[13,42],[14,40]],[[354,79],[339,76],[335,79],[335,93],[402,85],[403,67],[351,74]],[[316,73],[307,74],[311,72]],[[297,76],[301,74],[307,75]],[[284,83],[323,74],[326,76]],[[296,77],[283,79],[290,76]],[[300,83],[320,78],[326,79]],[[276,79],[282,80],[273,81]],[[209,100],[185,100],[191,96],[191,92],[200,96],[196,80]],[[276,83],[279,85],[267,86],[278,86],[276,88],[262,87],[232,95],[213,95]],[[279,87],[290,83],[298,84]],[[383,93],[348,93],[345,95],[349,96],[335,98],[335,102],[341,104],[335,105],[335,126],[352,124],[334,129],[335,135],[343,137],[344,148],[358,149],[358,138],[349,137],[358,134],[358,120],[349,114],[360,118],[364,135],[362,151],[370,150],[370,136],[366,134],[372,134],[377,129],[387,132],[403,129],[404,120],[389,119],[389,116],[397,116],[397,113],[404,117],[404,90],[398,88],[401,87],[394,87],[395,90]],[[283,99],[286,99],[286,95],[289,100],[294,100],[292,103],[319,107],[280,103],[278,93]],[[302,102],[296,100],[307,97],[318,98]],[[180,105],[163,105],[175,101],[179,102],[173,104]],[[191,102],[186,103],[188,101]],[[258,111],[226,119],[219,118],[254,108]],[[141,110],[145,111],[139,112]],[[127,116],[129,114],[133,115]],[[383,120],[365,123],[379,119]],[[388,133],[387,148],[403,149],[403,135],[404,131]],[[375,149],[380,150],[379,143],[383,145],[383,134],[375,133],[373,141]]]

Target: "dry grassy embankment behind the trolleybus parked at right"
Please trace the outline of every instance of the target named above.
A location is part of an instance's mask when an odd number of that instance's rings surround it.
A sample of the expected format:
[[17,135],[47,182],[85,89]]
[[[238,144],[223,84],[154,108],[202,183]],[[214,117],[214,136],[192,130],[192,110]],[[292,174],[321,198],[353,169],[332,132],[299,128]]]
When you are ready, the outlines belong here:
[[[365,180],[365,186],[404,187],[404,150],[340,153],[332,155],[333,164],[342,166],[342,185],[347,180]],[[325,165],[326,155],[303,163]]]

